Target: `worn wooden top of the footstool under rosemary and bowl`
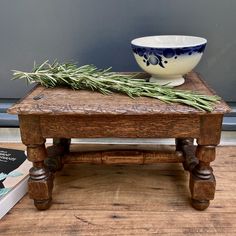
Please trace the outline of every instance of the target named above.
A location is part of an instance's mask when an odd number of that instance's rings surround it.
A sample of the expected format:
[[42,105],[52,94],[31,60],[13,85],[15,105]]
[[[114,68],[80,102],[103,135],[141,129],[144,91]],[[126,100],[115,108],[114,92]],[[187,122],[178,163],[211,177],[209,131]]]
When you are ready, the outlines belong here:
[[[199,75],[191,72],[185,83],[178,89],[199,91],[214,95]],[[221,100],[213,114],[230,112],[228,105]],[[45,88],[35,86],[24,98],[8,109],[10,114],[20,115],[154,115],[154,114],[206,114],[195,108],[181,104],[167,104],[158,99],[135,98],[114,93],[103,95],[92,91],[74,91],[69,88]]]

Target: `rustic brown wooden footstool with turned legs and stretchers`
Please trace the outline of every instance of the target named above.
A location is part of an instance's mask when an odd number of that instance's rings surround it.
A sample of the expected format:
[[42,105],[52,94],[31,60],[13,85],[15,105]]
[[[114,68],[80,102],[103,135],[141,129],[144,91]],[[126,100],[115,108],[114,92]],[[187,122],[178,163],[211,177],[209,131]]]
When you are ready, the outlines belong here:
[[[214,94],[194,72],[186,76],[185,84],[179,88]],[[220,142],[223,115],[229,111],[223,101],[209,113],[150,98],[131,99],[120,94],[105,96],[97,92],[42,86],[36,86],[8,110],[19,116],[22,142],[27,146],[28,159],[33,162],[29,196],[40,210],[50,206],[53,171],[68,162],[182,162],[190,171],[192,206],[198,210],[206,209],[209,200],[214,198],[216,187],[210,162],[214,161],[215,149]],[[46,138],[53,138],[51,148],[46,149]],[[71,138],[175,138],[176,149],[171,153],[71,154]],[[193,145],[194,139],[197,147]]]

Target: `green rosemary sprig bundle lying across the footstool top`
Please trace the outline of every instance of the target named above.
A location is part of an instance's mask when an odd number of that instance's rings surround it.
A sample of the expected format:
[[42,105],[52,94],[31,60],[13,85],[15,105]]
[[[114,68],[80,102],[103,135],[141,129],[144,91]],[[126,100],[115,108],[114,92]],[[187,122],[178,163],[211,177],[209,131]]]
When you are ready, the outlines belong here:
[[150,97],[167,103],[182,103],[202,111],[212,111],[220,100],[218,96],[203,95],[193,91],[177,90],[167,86],[136,79],[136,75],[100,70],[94,65],[78,67],[74,63],[34,64],[32,72],[13,71],[13,79],[26,79],[28,83],[40,83],[45,87],[68,86],[72,89],[99,91],[103,94],[119,92],[134,97]]

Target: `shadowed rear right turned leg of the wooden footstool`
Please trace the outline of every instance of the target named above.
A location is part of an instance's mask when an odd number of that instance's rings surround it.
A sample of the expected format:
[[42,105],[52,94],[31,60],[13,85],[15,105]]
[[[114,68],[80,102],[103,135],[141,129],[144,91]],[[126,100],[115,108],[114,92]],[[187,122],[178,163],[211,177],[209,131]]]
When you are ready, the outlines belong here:
[[181,151],[184,156],[183,167],[185,170],[191,171],[197,164],[198,159],[195,156],[195,148],[193,146],[193,138],[176,138],[176,151]]

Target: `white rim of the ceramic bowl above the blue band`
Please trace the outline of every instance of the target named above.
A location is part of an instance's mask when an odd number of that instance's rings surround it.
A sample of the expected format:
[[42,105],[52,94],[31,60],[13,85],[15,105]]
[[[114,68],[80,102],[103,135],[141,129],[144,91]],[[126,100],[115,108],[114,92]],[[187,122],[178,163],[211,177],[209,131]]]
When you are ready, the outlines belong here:
[[[174,45],[174,44],[169,44],[169,45],[160,45],[160,46],[155,46],[155,45],[148,45],[145,43],[140,43],[138,41],[140,40],[144,40],[144,39],[148,39],[148,38],[165,38],[165,37],[170,37],[170,38],[174,38],[174,37],[180,37],[180,38],[192,38],[192,39],[197,39],[199,40],[198,43],[189,43],[189,44],[182,44],[182,45]],[[135,38],[131,41],[131,44],[137,47],[145,47],[145,48],[185,48],[185,47],[195,47],[195,46],[200,46],[203,44],[207,43],[207,39],[203,38],[203,37],[198,37],[198,36],[191,36],[191,35],[150,35],[150,36],[144,36],[144,37],[139,37],[139,38]]]

